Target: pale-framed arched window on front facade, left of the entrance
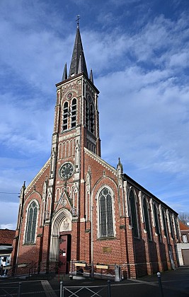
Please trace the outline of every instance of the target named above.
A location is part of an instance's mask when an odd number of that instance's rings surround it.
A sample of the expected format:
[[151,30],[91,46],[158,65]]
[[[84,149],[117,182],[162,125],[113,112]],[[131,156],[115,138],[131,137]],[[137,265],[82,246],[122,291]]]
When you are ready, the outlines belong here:
[[25,243],[35,243],[35,233],[37,226],[38,206],[33,201],[28,207],[27,225],[25,231]]

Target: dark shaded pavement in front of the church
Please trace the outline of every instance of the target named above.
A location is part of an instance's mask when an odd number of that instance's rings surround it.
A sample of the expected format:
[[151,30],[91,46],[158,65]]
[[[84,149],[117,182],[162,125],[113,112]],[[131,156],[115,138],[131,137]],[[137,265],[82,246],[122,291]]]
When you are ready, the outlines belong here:
[[[41,279],[40,279],[41,277]],[[61,279],[38,276],[38,279],[0,279],[0,297],[17,296],[19,283],[21,296],[57,297]],[[108,296],[108,281],[103,279],[63,278],[64,297]],[[189,267],[179,267],[176,271],[161,273],[163,295],[156,275],[139,279],[110,281],[111,297],[189,297]],[[71,295],[72,294],[72,295]]]

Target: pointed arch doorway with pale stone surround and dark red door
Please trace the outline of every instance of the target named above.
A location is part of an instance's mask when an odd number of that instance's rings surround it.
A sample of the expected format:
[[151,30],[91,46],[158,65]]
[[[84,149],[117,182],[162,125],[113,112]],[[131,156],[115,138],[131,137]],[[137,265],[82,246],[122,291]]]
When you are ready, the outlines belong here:
[[50,261],[58,264],[59,273],[69,273],[71,260],[71,219],[67,209],[59,209],[52,218]]

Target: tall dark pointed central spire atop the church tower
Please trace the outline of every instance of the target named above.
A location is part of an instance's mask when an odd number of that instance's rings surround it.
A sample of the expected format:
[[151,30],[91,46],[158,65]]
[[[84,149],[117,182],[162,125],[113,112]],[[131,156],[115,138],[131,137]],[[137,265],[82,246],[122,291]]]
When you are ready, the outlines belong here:
[[69,69],[69,78],[81,72],[84,72],[88,77],[88,73],[86,69],[86,60],[84,56],[84,50],[83,50],[81,35],[79,31],[79,25],[77,25],[76,39],[74,43],[74,50],[73,50],[70,69]]

